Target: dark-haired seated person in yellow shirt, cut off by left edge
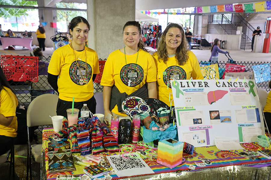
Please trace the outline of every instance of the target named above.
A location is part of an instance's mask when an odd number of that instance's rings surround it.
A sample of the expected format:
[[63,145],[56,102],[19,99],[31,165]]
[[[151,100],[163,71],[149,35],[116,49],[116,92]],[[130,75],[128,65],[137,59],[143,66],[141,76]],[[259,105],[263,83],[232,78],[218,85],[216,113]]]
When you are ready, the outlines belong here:
[[2,68],[0,67],[0,155],[5,154],[14,144],[17,136],[16,107],[18,100],[11,90]]

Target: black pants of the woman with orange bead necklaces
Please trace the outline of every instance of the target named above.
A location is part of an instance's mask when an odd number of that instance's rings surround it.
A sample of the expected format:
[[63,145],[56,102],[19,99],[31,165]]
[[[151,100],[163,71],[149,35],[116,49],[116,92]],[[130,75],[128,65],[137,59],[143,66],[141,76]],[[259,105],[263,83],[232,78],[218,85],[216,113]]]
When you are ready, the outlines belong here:
[[[73,102],[63,101],[61,99],[58,99],[57,115],[58,116],[64,116],[64,117],[67,118],[67,109],[72,108],[72,104],[73,104]],[[90,112],[92,112],[93,114],[96,113],[96,100],[95,100],[94,96],[92,96],[92,98],[90,98],[87,101],[74,102],[74,108],[79,109],[78,117],[81,117],[80,111],[81,111],[81,109],[83,107],[83,104],[87,104],[87,107],[89,108]]]

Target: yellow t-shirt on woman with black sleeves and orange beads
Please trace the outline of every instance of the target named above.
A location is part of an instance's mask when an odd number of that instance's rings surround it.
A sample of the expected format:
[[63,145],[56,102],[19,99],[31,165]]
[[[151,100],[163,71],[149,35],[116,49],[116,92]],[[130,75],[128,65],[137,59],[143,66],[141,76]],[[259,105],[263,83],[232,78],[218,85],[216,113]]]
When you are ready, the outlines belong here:
[[[64,101],[82,102],[93,96],[92,74],[100,73],[97,53],[86,47],[87,71],[85,51],[74,51],[77,62],[73,54],[73,49],[69,44],[56,49],[51,57],[48,66],[48,73],[58,75],[59,99]],[[79,70],[78,65],[81,70]],[[81,72],[81,73],[80,73]],[[86,75],[85,75],[86,74]],[[83,76],[83,77],[82,77]],[[86,78],[83,85],[80,84]]]

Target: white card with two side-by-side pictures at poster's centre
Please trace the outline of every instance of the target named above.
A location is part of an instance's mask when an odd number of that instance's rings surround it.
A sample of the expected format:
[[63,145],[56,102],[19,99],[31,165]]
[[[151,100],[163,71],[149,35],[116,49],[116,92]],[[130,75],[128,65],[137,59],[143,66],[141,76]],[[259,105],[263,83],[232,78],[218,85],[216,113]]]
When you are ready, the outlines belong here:
[[231,110],[209,111],[211,124],[232,123]]

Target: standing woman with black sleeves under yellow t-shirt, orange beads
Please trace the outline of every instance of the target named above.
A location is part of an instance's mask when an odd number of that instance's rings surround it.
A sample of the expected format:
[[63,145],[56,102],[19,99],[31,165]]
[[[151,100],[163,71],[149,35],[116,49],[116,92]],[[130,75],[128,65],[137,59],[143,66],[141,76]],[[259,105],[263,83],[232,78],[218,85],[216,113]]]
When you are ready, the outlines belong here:
[[93,81],[100,70],[97,53],[84,45],[89,35],[89,23],[78,16],[70,21],[68,29],[72,42],[56,49],[48,66],[48,82],[59,92],[56,112],[67,118],[66,110],[72,108],[74,97],[74,108],[81,110],[83,104],[87,104],[95,114]]

